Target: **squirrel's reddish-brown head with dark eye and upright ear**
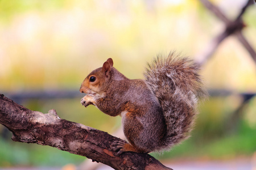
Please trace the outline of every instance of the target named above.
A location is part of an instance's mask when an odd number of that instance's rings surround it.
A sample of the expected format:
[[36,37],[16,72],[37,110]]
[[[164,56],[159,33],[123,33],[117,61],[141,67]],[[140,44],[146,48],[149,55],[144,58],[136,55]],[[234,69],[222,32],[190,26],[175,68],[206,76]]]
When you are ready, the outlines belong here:
[[[103,66],[93,70],[81,84],[80,92],[92,95],[102,95],[104,84],[110,79],[110,72],[113,69],[113,59],[109,58]],[[106,84],[105,84],[106,85]]]

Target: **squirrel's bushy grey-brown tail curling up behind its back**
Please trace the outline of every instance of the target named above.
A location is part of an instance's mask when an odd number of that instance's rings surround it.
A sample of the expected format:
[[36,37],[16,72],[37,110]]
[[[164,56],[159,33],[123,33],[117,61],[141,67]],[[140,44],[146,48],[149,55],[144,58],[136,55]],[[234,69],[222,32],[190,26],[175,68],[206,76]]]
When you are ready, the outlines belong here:
[[159,99],[167,125],[162,147],[170,148],[189,137],[195,120],[197,100],[207,96],[199,75],[199,66],[191,59],[158,56],[148,64],[144,76]]

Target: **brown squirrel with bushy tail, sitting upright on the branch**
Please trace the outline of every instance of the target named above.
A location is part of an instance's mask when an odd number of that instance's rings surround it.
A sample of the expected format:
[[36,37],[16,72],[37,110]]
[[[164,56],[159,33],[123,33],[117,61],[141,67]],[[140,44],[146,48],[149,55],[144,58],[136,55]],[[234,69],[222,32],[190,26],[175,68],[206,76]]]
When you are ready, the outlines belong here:
[[82,82],[80,92],[86,95],[81,104],[122,116],[129,143],[113,143],[118,154],[168,149],[189,137],[197,100],[207,96],[198,72],[191,59],[171,52],[148,64],[145,80],[128,79],[109,58]]

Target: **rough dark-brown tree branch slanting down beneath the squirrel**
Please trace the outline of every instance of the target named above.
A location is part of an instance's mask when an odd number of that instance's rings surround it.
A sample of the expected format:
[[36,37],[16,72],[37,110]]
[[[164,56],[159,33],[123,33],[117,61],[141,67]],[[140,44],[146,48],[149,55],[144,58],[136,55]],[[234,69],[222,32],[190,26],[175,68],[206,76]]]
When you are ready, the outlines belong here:
[[111,145],[122,139],[61,119],[54,109],[47,114],[31,111],[1,94],[0,124],[13,133],[13,141],[56,147],[114,169],[171,169],[148,154],[124,152],[116,156]]

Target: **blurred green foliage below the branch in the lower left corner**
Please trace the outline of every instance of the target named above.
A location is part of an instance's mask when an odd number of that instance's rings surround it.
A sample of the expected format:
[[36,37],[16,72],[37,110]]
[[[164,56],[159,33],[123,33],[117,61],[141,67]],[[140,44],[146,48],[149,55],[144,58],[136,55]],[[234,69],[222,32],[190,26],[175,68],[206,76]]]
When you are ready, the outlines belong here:
[[49,146],[18,143],[0,138],[0,167],[19,166],[61,166],[67,163],[79,164],[85,158],[57,150]]

